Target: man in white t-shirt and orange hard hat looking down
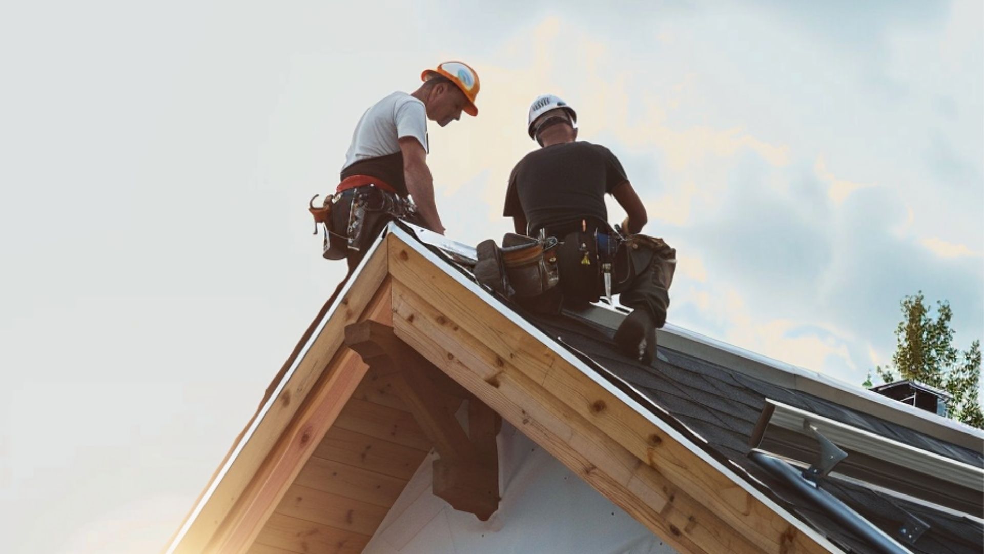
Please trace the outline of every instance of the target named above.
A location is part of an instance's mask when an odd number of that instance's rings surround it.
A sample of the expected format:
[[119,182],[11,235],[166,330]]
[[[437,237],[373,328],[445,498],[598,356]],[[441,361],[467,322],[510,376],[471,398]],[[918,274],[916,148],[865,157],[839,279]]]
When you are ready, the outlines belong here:
[[477,115],[478,76],[467,64],[447,61],[420,78],[416,91],[393,93],[366,110],[352,134],[335,195],[324,209],[312,207],[315,220],[327,227],[325,257],[347,257],[354,267],[395,217],[444,234],[427,168],[427,119],[443,127],[460,119],[461,111]]

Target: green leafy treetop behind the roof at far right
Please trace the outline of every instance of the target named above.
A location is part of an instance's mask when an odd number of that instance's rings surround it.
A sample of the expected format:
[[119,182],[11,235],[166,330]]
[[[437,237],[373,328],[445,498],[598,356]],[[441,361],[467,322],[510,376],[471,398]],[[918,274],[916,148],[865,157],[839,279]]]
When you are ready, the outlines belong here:
[[[950,319],[953,311],[947,301],[937,302],[936,317],[924,304],[922,291],[902,299],[902,321],[895,328],[897,346],[892,364],[878,366],[875,372],[885,382],[908,379],[942,388],[953,395],[947,405],[953,419],[984,429],[984,412],[978,399],[981,378],[981,344],[959,352],[953,346]],[[867,383],[871,382],[871,374]]]

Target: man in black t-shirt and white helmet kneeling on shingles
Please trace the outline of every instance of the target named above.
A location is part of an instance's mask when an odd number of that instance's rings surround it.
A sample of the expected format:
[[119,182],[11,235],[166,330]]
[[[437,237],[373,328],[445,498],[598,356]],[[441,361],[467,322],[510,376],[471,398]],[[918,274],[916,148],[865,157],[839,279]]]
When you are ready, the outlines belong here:
[[[645,206],[611,151],[577,140],[577,113],[570,105],[553,95],[537,98],[527,130],[542,148],[510,175],[504,215],[513,218],[519,235],[561,242],[555,257],[564,301],[621,294],[621,304],[634,311],[615,340],[627,355],[650,363],[655,329],[666,321],[676,250],[638,235],[646,225]],[[608,224],[605,194],[628,214],[621,229]]]

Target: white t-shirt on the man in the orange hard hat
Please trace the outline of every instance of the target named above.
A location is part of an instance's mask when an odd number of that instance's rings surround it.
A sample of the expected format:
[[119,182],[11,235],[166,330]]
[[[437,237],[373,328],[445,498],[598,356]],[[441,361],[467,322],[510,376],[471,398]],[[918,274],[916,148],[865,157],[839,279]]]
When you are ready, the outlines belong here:
[[399,139],[413,137],[424,152],[427,144],[427,109],[424,103],[406,93],[393,93],[373,104],[359,119],[352,143],[345,153],[345,168],[366,158],[379,158],[400,152]]

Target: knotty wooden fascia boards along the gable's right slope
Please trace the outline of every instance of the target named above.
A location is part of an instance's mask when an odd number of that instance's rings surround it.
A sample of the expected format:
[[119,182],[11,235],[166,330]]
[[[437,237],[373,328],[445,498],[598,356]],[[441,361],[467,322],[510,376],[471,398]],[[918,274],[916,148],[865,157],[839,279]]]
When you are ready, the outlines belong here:
[[[443,335],[441,355],[461,355],[461,365],[474,372],[471,374],[472,380],[478,380],[462,384],[497,411],[503,413],[499,405],[492,404],[476,388],[483,388],[479,381],[489,385],[500,382],[500,378],[509,373],[513,378],[511,382],[525,383],[523,389],[528,388],[526,384],[535,385],[535,389],[529,388],[525,393],[533,397],[535,395],[529,391],[538,391],[540,402],[552,405],[554,415],[566,410],[571,416],[578,416],[574,421],[587,422],[585,431],[593,428],[600,432],[631,456],[627,460],[630,464],[638,463],[645,467],[646,471],[642,472],[634,469],[638,473],[635,475],[637,485],[646,484],[648,490],[654,491],[664,501],[672,499],[671,505],[675,509],[679,509],[681,499],[686,499],[683,504],[691,506],[691,516],[697,523],[685,524],[684,527],[693,529],[695,525],[713,521],[714,525],[728,529],[725,534],[744,537],[744,540],[765,552],[785,552],[790,548],[800,552],[827,551],[825,545],[818,543],[810,534],[800,532],[792,522],[711,466],[703,457],[661,432],[643,414],[607,392],[580,369],[553,352],[552,348],[476,298],[412,248],[396,238],[392,239],[390,270],[396,280],[394,294],[399,297],[394,305],[397,312],[394,325],[398,336],[414,348],[423,348],[424,341],[410,339],[408,333],[413,327],[427,327],[426,332],[432,333],[432,337]],[[404,302],[405,299],[411,299],[409,304]],[[414,303],[415,308],[410,308]],[[404,305],[402,310],[410,312],[400,312]],[[440,310],[435,307],[440,307]],[[424,321],[418,322],[417,317],[423,317]],[[426,357],[451,375],[449,367],[455,366],[454,361],[434,358],[438,352],[433,346],[433,339],[430,342],[432,351],[425,352]],[[455,344],[467,344],[467,347],[455,347]],[[476,356],[470,352],[481,352],[483,355]],[[512,368],[512,371],[506,372],[507,368]],[[463,376],[452,377],[459,382],[463,379]],[[536,406],[530,406],[530,409],[536,409]],[[523,419],[527,418],[520,417],[518,427],[521,429]],[[657,483],[664,486],[656,486]],[[680,525],[674,526],[678,530],[684,529]],[[657,533],[668,540],[672,539],[672,536],[667,536],[672,535],[672,529],[665,524]]]

